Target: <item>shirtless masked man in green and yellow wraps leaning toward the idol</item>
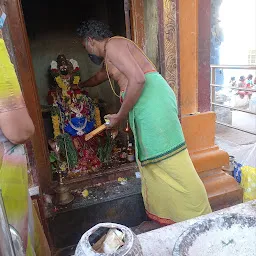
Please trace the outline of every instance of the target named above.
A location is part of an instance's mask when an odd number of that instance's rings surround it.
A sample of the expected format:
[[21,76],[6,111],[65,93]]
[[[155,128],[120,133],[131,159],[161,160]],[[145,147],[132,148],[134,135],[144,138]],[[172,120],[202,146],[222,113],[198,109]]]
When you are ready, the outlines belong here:
[[166,225],[210,213],[205,188],[186,149],[171,87],[137,45],[112,37],[106,24],[88,21],[78,33],[89,58],[95,64],[104,62],[79,86],[97,86],[110,76],[120,87],[122,106],[107,116],[109,127],[129,115],[149,218]]

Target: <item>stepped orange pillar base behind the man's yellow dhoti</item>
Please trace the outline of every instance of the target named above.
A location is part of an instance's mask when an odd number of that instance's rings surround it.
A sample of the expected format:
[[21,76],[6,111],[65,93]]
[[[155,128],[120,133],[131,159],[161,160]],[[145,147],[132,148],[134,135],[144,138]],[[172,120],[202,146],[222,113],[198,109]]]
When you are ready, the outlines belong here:
[[214,112],[183,117],[183,132],[192,162],[203,181],[213,210],[242,203],[243,191],[236,180],[222,170],[229,155],[215,145]]

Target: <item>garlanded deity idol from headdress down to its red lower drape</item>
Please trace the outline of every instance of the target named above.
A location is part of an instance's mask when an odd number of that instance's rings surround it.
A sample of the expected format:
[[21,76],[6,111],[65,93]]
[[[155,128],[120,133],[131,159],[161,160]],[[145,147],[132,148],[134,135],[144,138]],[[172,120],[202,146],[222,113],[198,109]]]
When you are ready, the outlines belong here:
[[77,61],[67,60],[64,55],[59,55],[57,61],[51,62],[50,71],[57,84],[57,88],[49,92],[53,105],[54,138],[60,144],[63,140],[64,144],[70,140],[69,145],[62,147],[66,149],[70,169],[95,170],[100,166],[97,143],[86,143],[84,135],[101,125],[99,109],[81,90],[72,89],[72,85],[78,85],[80,82]]

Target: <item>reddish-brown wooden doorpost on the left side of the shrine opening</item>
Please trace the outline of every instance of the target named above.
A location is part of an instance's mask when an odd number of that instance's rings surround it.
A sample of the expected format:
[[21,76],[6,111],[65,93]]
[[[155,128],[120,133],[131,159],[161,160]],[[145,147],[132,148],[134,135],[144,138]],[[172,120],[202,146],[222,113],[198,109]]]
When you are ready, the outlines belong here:
[[39,176],[39,185],[42,189],[45,189],[51,182],[51,167],[29,40],[20,0],[7,1],[7,14],[19,81],[26,106],[35,125],[32,145],[36,159],[36,170]]

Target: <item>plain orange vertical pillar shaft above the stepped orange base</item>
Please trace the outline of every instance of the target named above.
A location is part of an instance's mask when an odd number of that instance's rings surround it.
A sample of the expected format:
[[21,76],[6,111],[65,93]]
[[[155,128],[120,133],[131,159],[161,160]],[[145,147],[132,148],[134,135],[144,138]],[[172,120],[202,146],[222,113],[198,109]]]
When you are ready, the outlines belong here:
[[198,111],[198,0],[179,0],[181,116]]

